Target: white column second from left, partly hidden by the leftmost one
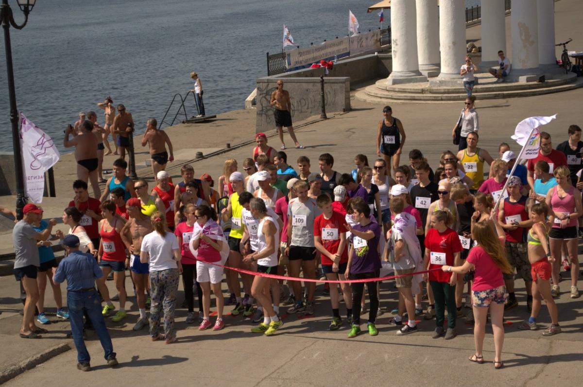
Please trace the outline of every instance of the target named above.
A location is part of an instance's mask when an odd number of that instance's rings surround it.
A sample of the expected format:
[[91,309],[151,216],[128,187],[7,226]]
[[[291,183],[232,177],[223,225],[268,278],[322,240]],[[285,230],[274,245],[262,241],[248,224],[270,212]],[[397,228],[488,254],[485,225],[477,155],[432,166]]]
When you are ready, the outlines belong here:
[[417,0],[416,5],[419,71],[428,77],[437,76],[440,65],[437,1]]

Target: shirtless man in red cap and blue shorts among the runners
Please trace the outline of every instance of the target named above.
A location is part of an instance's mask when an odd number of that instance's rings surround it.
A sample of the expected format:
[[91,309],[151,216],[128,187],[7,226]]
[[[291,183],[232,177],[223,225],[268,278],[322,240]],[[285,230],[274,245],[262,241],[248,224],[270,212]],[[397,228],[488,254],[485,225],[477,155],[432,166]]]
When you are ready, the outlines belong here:
[[131,198],[126,203],[129,220],[121,229],[121,240],[131,254],[129,270],[136,287],[136,298],[140,316],[134,330],[141,330],[148,325],[146,317],[146,289],[148,285],[148,264],[140,262],[142,239],[153,231],[150,217],[142,213],[142,203],[138,198]]

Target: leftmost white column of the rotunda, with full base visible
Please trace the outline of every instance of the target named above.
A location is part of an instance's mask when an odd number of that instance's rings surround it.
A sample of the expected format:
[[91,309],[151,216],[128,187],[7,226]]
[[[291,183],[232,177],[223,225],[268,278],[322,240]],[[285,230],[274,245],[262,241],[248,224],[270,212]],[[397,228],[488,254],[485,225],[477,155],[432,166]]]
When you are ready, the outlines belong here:
[[417,60],[415,2],[393,0],[391,3],[392,71],[388,85],[427,82],[419,72]]

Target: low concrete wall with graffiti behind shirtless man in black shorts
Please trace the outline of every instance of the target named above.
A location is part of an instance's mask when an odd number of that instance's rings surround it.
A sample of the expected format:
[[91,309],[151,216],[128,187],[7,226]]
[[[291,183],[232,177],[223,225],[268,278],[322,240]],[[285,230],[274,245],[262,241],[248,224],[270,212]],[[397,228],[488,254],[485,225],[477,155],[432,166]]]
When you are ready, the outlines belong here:
[[[310,69],[320,70],[320,69]],[[303,70],[305,71],[305,70]],[[291,119],[293,122],[319,115],[321,112],[320,78],[285,77],[283,88],[290,93]],[[278,77],[257,79],[257,120],[255,132],[275,129],[273,107],[269,105],[271,93],[276,89]],[[350,110],[350,78],[324,78],[326,112]]]

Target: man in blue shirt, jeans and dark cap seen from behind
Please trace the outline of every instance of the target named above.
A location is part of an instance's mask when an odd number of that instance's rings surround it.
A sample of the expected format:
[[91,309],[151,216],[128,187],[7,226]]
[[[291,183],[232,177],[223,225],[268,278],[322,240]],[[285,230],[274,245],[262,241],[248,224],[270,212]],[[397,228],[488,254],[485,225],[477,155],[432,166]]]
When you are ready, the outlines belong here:
[[76,235],[67,235],[62,244],[65,247],[66,257],[59,263],[53,281],[61,283],[67,280],[67,306],[79,361],[77,368],[81,371],[91,371],[89,364],[91,357],[83,340],[83,310],[89,315],[99,336],[107,365],[113,367],[118,363],[106,322],[101,314],[99,294],[95,289],[95,280],[102,277],[103,273],[93,255],[79,251],[79,238]]

